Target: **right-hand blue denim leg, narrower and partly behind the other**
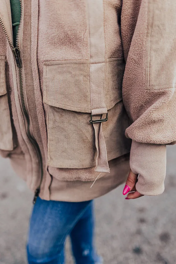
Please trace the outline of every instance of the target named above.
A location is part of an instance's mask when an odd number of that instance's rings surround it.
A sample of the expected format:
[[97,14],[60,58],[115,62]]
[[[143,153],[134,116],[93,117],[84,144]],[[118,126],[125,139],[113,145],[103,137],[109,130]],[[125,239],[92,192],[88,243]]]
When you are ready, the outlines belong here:
[[102,259],[94,246],[94,208],[93,201],[70,233],[72,252],[76,264],[101,264]]

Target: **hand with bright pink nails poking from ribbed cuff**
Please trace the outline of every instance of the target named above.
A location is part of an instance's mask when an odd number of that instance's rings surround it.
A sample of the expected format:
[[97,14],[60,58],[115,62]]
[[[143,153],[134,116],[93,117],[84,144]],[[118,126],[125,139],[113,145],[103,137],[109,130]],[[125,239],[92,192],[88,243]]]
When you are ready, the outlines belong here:
[[126,180],[126,185],[123,189],[123,195],[126,195],[128,192],[128,195],[125,199],[136,199],[143,194],[140,194],[139,192],[136,191],[136,182],[138,181],[138,174],[134,174],[131,170],[128,174],[128,178]]

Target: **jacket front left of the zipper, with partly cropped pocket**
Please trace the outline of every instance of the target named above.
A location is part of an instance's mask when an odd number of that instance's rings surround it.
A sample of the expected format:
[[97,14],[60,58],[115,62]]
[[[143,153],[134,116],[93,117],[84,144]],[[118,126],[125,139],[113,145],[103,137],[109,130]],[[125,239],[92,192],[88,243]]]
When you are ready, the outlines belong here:
[[[8,18],[8,17],[7,17]],[[0,27],[1,36],[1,85],[0,89],[6,90],[6,93],[1,93],[1,143],[0,153],[3,157],[9,157],[12,166],[28,183],[33,178],[33,165],[31,162],[31,154],[29,147],[25,142],[26,131],[23,126],[24,119],[20,109],[20,102],[17,89],[17,75],[15,61],[9,45],[9,42],[4,34],[4,30]],[[2,78],[3,75],[5,79]],[[9,117],[10,113],[10,117]],[[21,119],[21,124],[19,120]],[[22,136],[23,134],[23,136]],[[35,165],[38,167],[38,165]],[[36,176],[36,175],[35,175]]]

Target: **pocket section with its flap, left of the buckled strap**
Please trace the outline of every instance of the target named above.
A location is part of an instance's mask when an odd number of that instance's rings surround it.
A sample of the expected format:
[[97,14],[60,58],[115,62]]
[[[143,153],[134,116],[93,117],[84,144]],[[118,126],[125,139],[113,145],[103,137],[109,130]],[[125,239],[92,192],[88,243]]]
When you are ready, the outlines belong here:
[[43,103],[49,166],[86,168],[95,165],[94,134],[89,123],[89,78],[86,60],[44,62]]

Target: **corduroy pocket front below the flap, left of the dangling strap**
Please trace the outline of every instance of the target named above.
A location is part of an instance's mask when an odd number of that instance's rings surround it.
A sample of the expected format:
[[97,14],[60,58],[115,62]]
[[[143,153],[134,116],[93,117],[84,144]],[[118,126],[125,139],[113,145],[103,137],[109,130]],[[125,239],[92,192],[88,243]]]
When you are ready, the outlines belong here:
[[[87,168],[95,164],[90,114],[47,106],[48,165]],[[86,157],[86,158],[85,158]]]

